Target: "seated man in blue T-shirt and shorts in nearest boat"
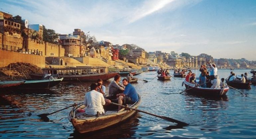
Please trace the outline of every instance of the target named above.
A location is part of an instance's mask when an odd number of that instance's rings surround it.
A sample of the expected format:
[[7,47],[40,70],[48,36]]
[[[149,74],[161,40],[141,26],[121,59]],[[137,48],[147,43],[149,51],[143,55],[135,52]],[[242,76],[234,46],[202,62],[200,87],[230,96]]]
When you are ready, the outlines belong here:
[[[123,79],[123,85],[125,86],[124,93],[117,94],[118,97],[118,104],[125,105],[125,104],[133,104],[139,100],[138,94],[135,88],[128,82],[127,79]],[[122,107],[118,106],[118,111]]]

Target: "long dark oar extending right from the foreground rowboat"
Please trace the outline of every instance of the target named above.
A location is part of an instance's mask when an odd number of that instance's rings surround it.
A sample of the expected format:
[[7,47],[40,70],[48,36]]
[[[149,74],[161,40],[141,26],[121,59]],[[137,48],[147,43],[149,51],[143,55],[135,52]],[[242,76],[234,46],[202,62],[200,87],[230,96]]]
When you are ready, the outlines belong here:
[[124,108],[127,108],[127,109],[131,109],[131,110],[134,110],[134,111],[142,112],[142,113],[145,113],[145,114],[148,114],[148,115],[151,115],[151,116],[156,116],[156,117],[159,117],[159,118],[171,121],[171,122],[175,122],[175,123],[178,123],[178,124],[189,125],[186,122],[182,122],[182,121],[170,118],[170,117],[155,115],[155,114],[152,114],[152,113],[149,113],[149,112],[145,112],[145,111],[142,111],[142,110],[138,110],[138,109],[135,109],[135,108],[131,108],[131,107],[120,105],[120,104],[113,103],[113,102],[111,102],[110,104],[113,104],[113,105],[116,105],[116,106],[121,106],[121,107],[124,107]]

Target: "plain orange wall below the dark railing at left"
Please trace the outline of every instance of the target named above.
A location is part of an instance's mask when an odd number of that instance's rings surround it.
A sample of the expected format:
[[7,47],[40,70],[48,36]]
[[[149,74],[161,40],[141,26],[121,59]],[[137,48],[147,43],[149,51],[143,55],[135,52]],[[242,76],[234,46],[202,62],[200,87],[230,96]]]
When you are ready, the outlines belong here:
[[32,54],[23,54],[0,50],[0,67],[8,66],[10,63],[24,62],[45,68],[45,57]]

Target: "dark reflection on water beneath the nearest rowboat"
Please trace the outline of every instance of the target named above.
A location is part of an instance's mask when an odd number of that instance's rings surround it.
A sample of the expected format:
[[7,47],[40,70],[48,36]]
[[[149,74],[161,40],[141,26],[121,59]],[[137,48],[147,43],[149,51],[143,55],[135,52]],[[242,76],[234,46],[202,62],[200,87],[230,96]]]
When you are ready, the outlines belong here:
[[74,130],[74,132],[69,135],[69,138],[81,138],[81,139],[132,138],[132,136],[136,132],[135,130],[138,129],[137,126],[139,125],[139,121],[140,121],[139,118],[141,118],[141,116],[138,114],[138,112],[136,112],[131,118],[119,124],[116,124],[98,131],[89,132],[89,133],[78,133],[77,131]]

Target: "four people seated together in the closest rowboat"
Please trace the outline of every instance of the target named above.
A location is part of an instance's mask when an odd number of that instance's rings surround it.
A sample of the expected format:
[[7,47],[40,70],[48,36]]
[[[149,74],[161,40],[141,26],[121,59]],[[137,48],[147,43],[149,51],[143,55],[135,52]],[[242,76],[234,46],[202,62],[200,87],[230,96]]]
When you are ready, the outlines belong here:
[[[101,79],[97,83],[90,85],[90,92],[87,92],[84,97],[83,104],[85,109],[78,109],[78,112],[85,112],[87,115],[101,115],[104,114],[103,105],[111,104],[112,100],[118,100],[118,104],[133,104],[139,100],[137,91],[129,83],[128,79],[124,78],[121,84],[119,81],[121,76],[119,74],[114,76],[114,80],[109,84],[109,96],[104,98],[106,87],[103,85]],[[121,107],[118,107],[118,111]]]

